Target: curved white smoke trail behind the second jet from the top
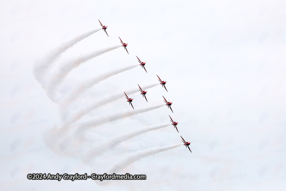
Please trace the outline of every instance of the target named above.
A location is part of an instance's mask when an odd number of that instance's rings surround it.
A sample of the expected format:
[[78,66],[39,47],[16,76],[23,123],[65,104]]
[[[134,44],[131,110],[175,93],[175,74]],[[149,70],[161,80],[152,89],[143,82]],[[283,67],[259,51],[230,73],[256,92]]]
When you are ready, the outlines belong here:
[[61,84],[61,82],[63,82],[63,80],[65,79],[65,77],[67,76],[67,74],[69,72],[71,72],[74,68],[80,66],[80,64],[95,58],[97,56],[100,56],[106,52],[109,52],[111,50],[115,50],[116,48],[121,47],[121,45],[118,46],[114,46],[111,48],[106,48],[104,50],[99,50],[99,51],[94,51],[91,52],[90,54],[87,54],[85,56],[79,56],[76,59],[70,59],[67,62],[61,64],[60,69],[58,70],[57,74],[55,74],[52,79],[49,81],[49,83],[47,84],[47,95],[49,97],[49,99],[51,99],[51,101],[57,103],[59,100],[58,94],[56,92],[57,87],[59,86],[59,84]]

